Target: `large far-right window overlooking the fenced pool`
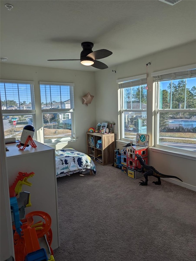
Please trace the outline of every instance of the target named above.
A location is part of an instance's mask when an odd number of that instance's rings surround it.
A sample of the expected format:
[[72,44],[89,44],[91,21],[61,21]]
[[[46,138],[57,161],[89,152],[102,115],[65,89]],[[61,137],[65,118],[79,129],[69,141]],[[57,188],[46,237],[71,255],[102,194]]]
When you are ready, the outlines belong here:
[[196,151],[196,64],[152,73],[156,147]]

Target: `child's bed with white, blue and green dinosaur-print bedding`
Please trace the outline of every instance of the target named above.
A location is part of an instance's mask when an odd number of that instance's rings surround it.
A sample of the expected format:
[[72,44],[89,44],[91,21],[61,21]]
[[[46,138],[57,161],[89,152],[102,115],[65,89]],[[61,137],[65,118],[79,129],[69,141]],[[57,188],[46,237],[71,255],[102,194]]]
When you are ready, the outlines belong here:
[[92,159],[85,153],[72,148],[56,150],[56,176],[63,177],[76,172],[96,174],[96,167]]

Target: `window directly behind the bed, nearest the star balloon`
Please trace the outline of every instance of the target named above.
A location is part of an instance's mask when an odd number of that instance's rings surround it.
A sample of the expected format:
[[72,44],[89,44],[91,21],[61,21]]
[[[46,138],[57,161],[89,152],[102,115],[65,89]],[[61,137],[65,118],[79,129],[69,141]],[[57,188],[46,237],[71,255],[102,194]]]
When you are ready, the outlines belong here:
[[44,143],[75,137],[74,84],[40,82]]

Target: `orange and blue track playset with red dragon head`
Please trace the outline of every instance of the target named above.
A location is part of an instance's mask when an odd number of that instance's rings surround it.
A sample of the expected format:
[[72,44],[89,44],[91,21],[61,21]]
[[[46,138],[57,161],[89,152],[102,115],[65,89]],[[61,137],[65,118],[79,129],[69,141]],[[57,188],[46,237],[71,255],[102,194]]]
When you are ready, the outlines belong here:
[[[21,192],[22,185],[32,186],[27,181],[34,172],[19,172],[13,185],[9,187],[12,215],[13,241],[16,261],[55,261],[53,257],[51,217],[43,211],[34,211],[25,215],[25,208],[31,206],[30,193]],[[33,216],[44,221],[34,224]]]

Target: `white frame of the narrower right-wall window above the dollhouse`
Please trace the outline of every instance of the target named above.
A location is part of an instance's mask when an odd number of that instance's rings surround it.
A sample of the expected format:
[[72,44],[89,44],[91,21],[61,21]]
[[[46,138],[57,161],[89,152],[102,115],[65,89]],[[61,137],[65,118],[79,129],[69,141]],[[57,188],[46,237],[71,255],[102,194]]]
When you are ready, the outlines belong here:
[[129,138],[124,137],[124,123],[123,123],[123,113],[128,112],[144,112],[147,109],[123,109],[123,88],[135,87],[139,85],[147,84],[146,74],[132,76],[128,78],[122,78],[116,80],[118,84],[118,107],[119,107],[119,139],[123,142],[130,142]]

